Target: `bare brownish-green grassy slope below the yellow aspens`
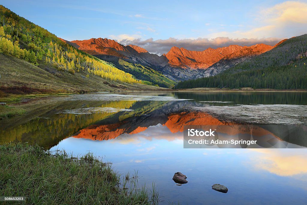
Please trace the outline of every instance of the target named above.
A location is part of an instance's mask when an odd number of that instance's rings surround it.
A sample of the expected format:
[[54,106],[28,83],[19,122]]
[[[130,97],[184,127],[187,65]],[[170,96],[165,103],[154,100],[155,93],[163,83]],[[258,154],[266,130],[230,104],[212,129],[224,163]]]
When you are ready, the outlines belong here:
[[[110,82],[86,71],[61,72],[51,64],[39,67],[13,56],[0,54],[0,99],[7,93],[61,93],[84,91],[157,90],[139,83]],[[86,77],[88,75],[88,77]]]

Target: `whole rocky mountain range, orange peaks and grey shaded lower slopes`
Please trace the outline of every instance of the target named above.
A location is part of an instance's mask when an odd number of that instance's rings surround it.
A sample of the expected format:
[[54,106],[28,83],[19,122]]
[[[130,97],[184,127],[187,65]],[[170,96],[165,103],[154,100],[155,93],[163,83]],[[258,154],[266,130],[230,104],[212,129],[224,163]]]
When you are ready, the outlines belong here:
[[[283,41],[286,41],[286,39]],[[83,41],[65,42],[100,59],[110,60],[108,56],[121,58],[129,63],[146,65],[162,72],[163,75],[172,80],[179,81],[216,75],[223,71],[223,69],[215,69],[212,72],[212,69],[208,68],[213,64],[221,60],[230,60],[228,64],[235,65],[251,56],[267,52],[283,41],[274,46],[266,44],[252,46],[230,45],[216,49],[207,48],[204,51],[190,51],[174,46],[168,53],[161,56],[149,53],[146,49],[137,45],[124,46],[107,38],[91,38]],[[209,74],[204,72],[207,69],[211,71]]]

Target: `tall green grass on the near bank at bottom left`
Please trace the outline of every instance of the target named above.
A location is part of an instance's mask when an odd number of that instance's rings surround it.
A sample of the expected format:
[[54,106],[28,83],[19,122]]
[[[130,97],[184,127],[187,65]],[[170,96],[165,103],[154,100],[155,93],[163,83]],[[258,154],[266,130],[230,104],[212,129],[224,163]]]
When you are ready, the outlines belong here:
[[[145,187],[119,188],[119,173],[90,153],[74,158],[38,145],[8,143],[0,146],[0,164],[0,196],[25,196],[21,204],[157,203],[157,193],[149,196]],[[131,178],[122,179],[125,187]]]

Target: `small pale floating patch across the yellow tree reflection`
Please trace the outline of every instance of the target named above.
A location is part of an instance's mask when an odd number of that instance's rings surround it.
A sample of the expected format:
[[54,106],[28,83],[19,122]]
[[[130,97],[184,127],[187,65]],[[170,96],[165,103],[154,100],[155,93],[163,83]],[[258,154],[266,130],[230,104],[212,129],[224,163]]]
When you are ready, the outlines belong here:
[[94,113],[112,113],[112,112],[121,112],[121,111],[133,111],[131,109],[122,109],[114,107],[87,107],[80,109],[72,110],[62,110],[56,114],[94,114]]

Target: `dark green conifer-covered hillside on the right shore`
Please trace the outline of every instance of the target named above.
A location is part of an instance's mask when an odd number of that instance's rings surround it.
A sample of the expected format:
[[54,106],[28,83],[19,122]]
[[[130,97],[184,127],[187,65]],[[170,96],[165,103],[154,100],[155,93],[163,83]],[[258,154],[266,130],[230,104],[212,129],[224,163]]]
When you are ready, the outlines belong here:
[[307,34],[244,61],[216,76],[179,82],[176,88],[307,89]]

